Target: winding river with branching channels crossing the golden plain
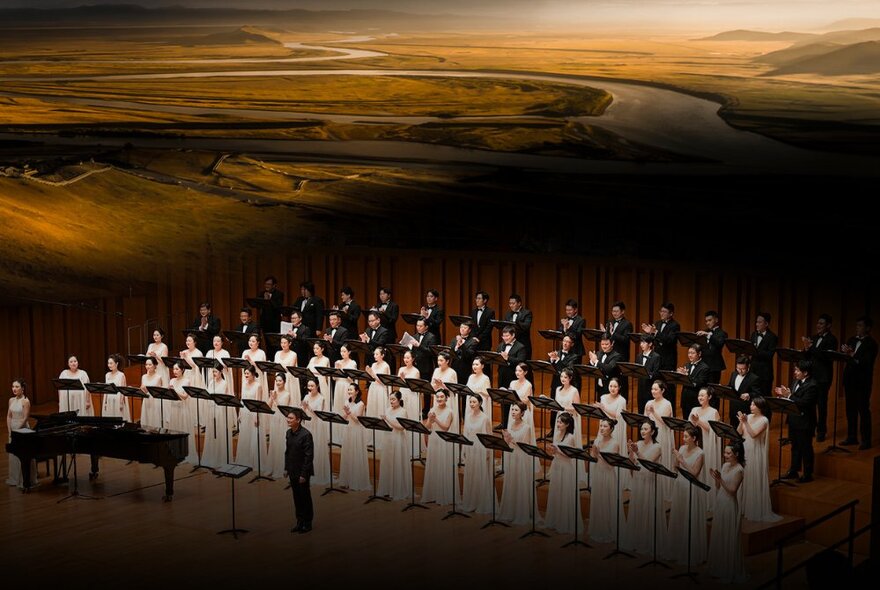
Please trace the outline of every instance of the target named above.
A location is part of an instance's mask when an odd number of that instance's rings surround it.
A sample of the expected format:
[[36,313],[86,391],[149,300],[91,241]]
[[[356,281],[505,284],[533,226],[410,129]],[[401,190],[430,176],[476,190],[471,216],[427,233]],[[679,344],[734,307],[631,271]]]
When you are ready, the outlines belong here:
[[[193,60],[144,60],[133,62],[104,61],[90,63],[144,63],[144,64],[193,64],[217,65],[230,63],[314,63],[329,61],[350,61],[366,58],[385,57],[388,54],[379,51],[350,48],[342,45],[345,42],[365,42],[370,37],[358,37],[334,41],[334,46],[313,45],[304,43],[286,43],[290,49],[319,50],[332,52],[329,55],[296,58],[245,58],[245,59],[193,59]],[[342,45],[338,47],[336,45]],[[835,172],[842,174],[876,174],[876,162],[870,158],[830,154],[818,151],[803,150],[764,136],[740,131],[729,126],[718,116],[719,105],[712,101],[697,98],[682,92],[656,88],[652,86],[609,81],[601,78],[590,78],[570,75],[544,74],[532,72],[492,72],[468,70],[393,70],[393,69],[248,69],[223,71],[189,71],[153,74],[102,74],[85,76],[49,76],[49,77],[6,77],[0,81],[32,81],[32,82],[66,82],[76,80],[120,81],[120,80],[172,80],[185,78],[231,78],[231,77],[270,77],[270,76],[409,76],[434,78],[483,78],[505,80],[532,80],[580,87],[602,88],[613,96],[611,106],[599,117],[576,117],[574,120],[595,125],[613,131],[625,139],[650,146],[673,151],[679,154],[699,156],[715,160],[714,164],[633,164],[631,162],[589,161],[577,158],[561,158],[550,156],[530,156],[523,154],[507,154],[484,152],[446,146],[413,144],[393,141],[271,141],[271,140],[149,140],[136,138],[139,145],[163,144],[201,147],[203,149],[242,149],[243,151],[276,152],[276,153],[312,153],[326,157],[342,157],[346,159],[373,159],[377,157],[389,159],[411,160],[424,159],[439,162],[463,162],[475,164],[512,165],[528,168],[550,169],[554,171],[590,172],[590,173],[681,173],[683,167],[692,173],[796,173]],[[346,114],[324,114],[309,112],[291,112],[260,109],[225,109],[186,106],[166,106],[141,103],[136,101],[112,101],[92,98],[53,97],[41,94],[16,94],[0,91],[0,96],[30,96],[44,100],[63,103],[74,103],[91,106],[109,106],[114,108],[130,108],[146,111],[168,113],[187,113],[195,115],[223,114],[239,117],[259,117],[270,120],[329,120],[336,122],[364,123],[404,123],[419,124],[430,121],[450,121],[449,118],[436,117],[404,117],[404,116],[365,116]],[[478,117],[480,120],[493,117]],[[507,117],[494,117],[504,119]],[[520,117],[521,118],[521,117]],[[463,121],[468,117],[452,120]],[[0,134],[0,137],[17,137],[21,135]],[[45,136],[41,135],[45,138]],[[69,138],[57,138],[59,142],[70,142]],[[46,138],[46,141],[53,141]],[[91,138],[95,143],[97,140]],[[115,140],[101,138],[102,144],[113,144]],[[220,146],[225,147],[220,147]],[[237,146],[237,147],[236,147]]]

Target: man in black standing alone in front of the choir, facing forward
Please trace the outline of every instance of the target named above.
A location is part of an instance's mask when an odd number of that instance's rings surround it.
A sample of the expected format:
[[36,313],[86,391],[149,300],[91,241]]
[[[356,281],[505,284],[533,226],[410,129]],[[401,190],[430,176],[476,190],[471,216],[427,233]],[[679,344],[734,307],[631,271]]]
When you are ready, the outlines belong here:
[[312,433],[302,425],[305,415],[300,408],[294,408],[287,415],[287,447],[284,450],[284,470],[290,480],[293,492],[293,510],[296,526],[291,533],[308,533],[312,530],[315,512],[312,505],[311,478],[315,475],[315,443]]

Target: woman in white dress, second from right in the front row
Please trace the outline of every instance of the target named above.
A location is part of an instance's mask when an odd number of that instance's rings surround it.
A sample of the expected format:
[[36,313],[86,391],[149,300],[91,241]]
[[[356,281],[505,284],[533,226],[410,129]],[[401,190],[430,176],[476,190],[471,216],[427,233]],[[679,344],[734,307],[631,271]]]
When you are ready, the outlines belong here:
[[[703,449],[700,448],[700,429],[689,425],[682,432],[684,444],[673,453],[678,471],[687,470],[697,480],[703,478]],[[694,488],[679,475],[675,478],[672,491],[672,506],[669,509],[669,536],[667,557],[679,563],[688,563],[688,539],[690,539],[690,563],[698,565],[706,561],[706,492]],[[690,516],[688,513],[690,506]],[[690,537],[688,537],[690,523]]]

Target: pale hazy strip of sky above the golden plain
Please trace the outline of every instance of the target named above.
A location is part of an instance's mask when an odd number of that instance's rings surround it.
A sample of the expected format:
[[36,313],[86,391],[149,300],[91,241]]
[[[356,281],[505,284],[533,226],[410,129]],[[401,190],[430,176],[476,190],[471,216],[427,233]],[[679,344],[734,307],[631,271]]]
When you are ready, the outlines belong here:
[[816,29],[846,18],[880,18],[880,0],[0,0],[3,7],[56,8],[82,4],[184,5],[202,8],[376,8],[411,13],[521,16],[554,23],[711,23],[711,28]]

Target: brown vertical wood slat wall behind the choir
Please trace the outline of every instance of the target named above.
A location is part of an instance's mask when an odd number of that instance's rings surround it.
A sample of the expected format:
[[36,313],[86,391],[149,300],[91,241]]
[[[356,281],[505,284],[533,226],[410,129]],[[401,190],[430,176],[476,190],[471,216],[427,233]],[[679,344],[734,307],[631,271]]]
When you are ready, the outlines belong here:
[[[627,317],[636,329],[657,318],[664,301],[676,306],[682,329],[703,327],[703,314],[716,309],[731,337],[747,338],[758,311],[772,314],[771,329],[780,346],[800,347],[810,335],[816,317],[830,313],[833,331],[841,339],[853,333],[855,318],[872,312],[868,286],[819,283],[809,276],[785,273],[755,274],[749,266],[716,268],[688,263],[645,262],[587,258],[541,257],[480,253],[372,251],[263,256],[256,260],[213,257],[197,271],[172,267],[145,294],[108,297],[77,306],[33,304],[0,308],[0,383],[23,377],[35,403],[54,399],[50,379],[66,367],[67,355],[80,358],[92,380],[103,380],[108,354],[142,352],[152,329],[162,326],[172,354],[183,348],[182,330],[196,317],[199,303],[210,301],[223,328],[238,324],[245,297],[262,290],[263,279],[275,275],[285,292],[285,303],[299,295],[299,282],[315,283],[328,307],[338,303],[344,286],[355,290],[364,309],[376,303],[381,286],[391,287],[402,312],[418,311],[427,289],[441,292],[447,315],[468,313],[478,289],[489,292],[498,317],[507,310],[511,293],[522,295],[534,313],[532,342],[535,358],[546,358],[550,344],[538,329],[555,327],[568,298],[580,303],[588,327],[607,321],[617,300],[627,305]],[[876,315],[876,314],[872,314]],[[361,320],[361,329],[365,321]],[[412,330],[401,320],[400,333]],[[455,334],[447,321],[443,339]],[[498,335],[495,335],[495,343]],[[684,362],[683,349],[679,361]],[[733,356],[726,357],[729,375]],[[127,370],[137,383],[138,367]],[[788,382],[789,368],[776,363],[777,381]]]

